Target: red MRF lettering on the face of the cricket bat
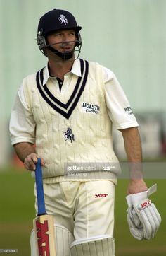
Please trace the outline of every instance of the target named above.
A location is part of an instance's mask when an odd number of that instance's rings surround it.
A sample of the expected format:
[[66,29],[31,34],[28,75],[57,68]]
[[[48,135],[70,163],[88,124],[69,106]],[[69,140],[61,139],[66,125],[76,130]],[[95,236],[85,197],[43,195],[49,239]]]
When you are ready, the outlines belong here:
[[39,256],[50,256],[49,235],[46,234],[49,231],[48,221],[44,221],[44,223],[36,221],[36,226]]

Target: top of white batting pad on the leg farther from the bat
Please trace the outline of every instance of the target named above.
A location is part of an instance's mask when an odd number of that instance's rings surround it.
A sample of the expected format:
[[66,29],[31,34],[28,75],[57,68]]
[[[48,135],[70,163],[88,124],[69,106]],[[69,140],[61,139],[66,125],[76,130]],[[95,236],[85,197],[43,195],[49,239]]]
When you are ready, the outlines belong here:
[[76,240],[70,248],[71,256],[114,256],[115,242],[110,235]]

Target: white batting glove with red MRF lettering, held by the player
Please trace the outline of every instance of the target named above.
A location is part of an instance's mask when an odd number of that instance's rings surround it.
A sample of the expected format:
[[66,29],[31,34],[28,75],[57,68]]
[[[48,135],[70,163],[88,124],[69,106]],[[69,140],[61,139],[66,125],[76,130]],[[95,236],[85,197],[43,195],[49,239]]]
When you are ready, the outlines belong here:
[[148,199],[150,194],[157,190],[157,185],[153,185],[147,191],[137,194],[129,194],[127,204],[127,222],[129,230],[138,240],[154,238],[155,233],[161,223],[161,216],[155,205]]

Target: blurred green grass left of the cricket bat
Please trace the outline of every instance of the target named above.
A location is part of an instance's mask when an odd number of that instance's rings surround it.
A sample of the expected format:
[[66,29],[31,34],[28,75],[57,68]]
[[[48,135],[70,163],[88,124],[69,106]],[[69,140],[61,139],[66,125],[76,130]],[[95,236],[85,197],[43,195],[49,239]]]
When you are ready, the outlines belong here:
[[14,255],[30,255],[33,186],[34,179],[25,170],[11,168],[0,171],[0,248],[18,249]]

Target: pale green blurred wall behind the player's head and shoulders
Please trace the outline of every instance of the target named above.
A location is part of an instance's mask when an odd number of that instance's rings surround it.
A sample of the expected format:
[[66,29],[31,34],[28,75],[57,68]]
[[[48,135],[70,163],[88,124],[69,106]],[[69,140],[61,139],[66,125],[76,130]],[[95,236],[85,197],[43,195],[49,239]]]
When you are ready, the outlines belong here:
[[[39,18],[53,8],[75,15],[80,57],[115,73],[135,113],[166,113],[165,0],[0,0],[0,166],[10,161],[15,94],[25,76],[46,66],[35,38]],[[166,114],[162,122],[166,134]]]

